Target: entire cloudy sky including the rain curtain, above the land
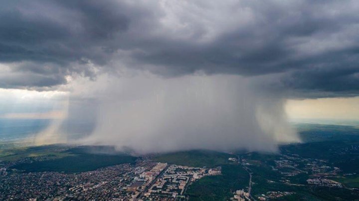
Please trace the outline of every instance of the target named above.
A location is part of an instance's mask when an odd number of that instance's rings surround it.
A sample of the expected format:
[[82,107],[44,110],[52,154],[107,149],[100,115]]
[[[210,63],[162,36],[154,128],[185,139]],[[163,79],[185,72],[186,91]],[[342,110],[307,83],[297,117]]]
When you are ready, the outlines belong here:
[[359,119],[356,0],[0,5],[0,118],[93,125],[76,143],[275,151],[293,119]]

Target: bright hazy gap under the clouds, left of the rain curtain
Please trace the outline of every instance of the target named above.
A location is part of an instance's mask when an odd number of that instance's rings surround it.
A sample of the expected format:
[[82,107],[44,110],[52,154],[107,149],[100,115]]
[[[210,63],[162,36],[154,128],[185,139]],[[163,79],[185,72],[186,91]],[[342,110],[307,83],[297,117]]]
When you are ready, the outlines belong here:
[[30,144],[66,142],[68,92],[0,89],[0,140]]

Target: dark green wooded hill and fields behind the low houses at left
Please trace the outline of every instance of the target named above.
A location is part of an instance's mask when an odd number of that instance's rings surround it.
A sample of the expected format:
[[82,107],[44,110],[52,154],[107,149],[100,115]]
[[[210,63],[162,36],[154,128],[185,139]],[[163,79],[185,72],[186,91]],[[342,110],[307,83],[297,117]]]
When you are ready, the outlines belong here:
[[68,147],[62,145],[33,146],[2,150],[0,160],[16,161],[27,158],[31,163],[11,167],[24,172],[85,172],[123,163],[135,163],[137,157],[116,151],[110,146]]

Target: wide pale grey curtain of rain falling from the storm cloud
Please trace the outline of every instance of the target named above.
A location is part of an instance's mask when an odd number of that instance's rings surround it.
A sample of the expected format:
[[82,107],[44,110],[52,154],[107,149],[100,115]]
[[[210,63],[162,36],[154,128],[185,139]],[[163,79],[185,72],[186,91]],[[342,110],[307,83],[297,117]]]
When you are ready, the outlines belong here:
[[263,100],[238,75],[111,80],[98,94],[96,129],[80,143],[148,153],[195,148],[276,151],[278,142],[300,141],[281,116],[282,100]]

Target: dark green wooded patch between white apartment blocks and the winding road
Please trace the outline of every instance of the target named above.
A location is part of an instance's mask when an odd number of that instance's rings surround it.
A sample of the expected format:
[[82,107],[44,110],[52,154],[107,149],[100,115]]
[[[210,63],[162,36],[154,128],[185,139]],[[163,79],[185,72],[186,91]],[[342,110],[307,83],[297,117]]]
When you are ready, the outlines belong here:
[[207,176],[188,187],[190,201],[227,201],[239,189],[246,189],[249,174],[239,165],[223,165],[222,175]]

